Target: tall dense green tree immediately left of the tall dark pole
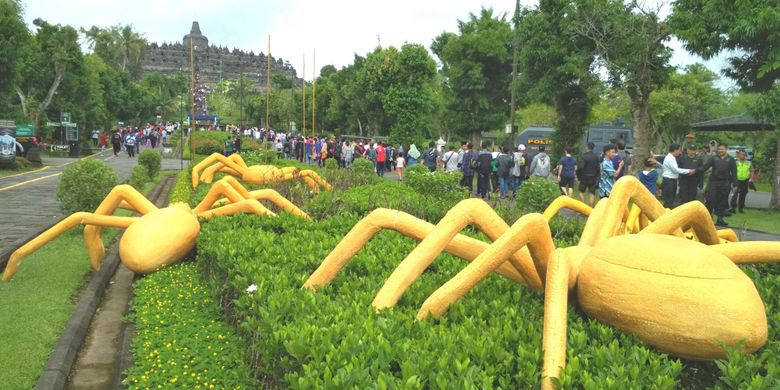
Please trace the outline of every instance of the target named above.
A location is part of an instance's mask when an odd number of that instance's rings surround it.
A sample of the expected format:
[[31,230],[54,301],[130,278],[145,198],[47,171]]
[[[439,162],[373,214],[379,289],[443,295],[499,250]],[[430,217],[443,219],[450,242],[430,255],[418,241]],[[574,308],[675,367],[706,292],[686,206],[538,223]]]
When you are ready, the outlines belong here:
[[431,50],[442,63],[445,124],[473,141],[503,127],[512,73],[512,29],[505,15],[482,8],[458,21],[458,33],[436,37]]

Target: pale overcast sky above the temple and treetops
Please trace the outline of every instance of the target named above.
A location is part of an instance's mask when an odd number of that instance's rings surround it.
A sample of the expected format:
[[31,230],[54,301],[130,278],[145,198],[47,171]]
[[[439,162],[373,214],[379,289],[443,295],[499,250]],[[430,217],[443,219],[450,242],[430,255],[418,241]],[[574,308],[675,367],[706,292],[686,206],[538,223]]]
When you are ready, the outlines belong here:
[[[316,69],[352,63],[354,54],[365,55],[377,43],[400,46],[405,42],[429,47],[443,31],[456,31],[457,21],[480,7],[511,18],[514,0],[22,0],[25,20],[42,18],[50,23],[89,28],[129,24],[149,42],[180,42],[193,20],[200,23],[209,43],[245,51],[267,52],[290,63],[301,75],[306,55],[306,79],[312,78],[312,52]],[[524,6],[537,1],[521,0]],[[704,62],[687,53],[678,41],[672,64]],[[720,73],[723,58],[704,62]],[[722,80],[721,87],[730,85]]]

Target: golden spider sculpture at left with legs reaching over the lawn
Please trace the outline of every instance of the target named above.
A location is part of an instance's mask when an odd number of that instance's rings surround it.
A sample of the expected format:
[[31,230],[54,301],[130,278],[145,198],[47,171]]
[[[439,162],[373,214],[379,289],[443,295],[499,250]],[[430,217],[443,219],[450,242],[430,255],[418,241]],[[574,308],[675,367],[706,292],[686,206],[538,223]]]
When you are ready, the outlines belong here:
[[[224,199],[220,199],[222,197]],[[119,242],[122,263],[135,273],[150,273],[178,262],[195,247],[195,239],[200,233],[198,217],[210,219],[239,212],[275,215],[260,203],[261,200],[271,202],[293,215],[311,219],[278,192],[272,189],[249,192],[230,176],[214,183],[194,209],[190,209],[186,203],[174,203],[160,209],[133,187],[118,185],[94,213],[71,214],[12,253],[3,273],[3,281],[14,276],[22,259],[77,225],[86,225],[84,241],[95,271],[100,269],[105,257],[100,234],[104,227],[116,227],[127,229]],[[214,206],[217,207],[212,209]],[[135,211],[141,217],[112,215],[117,208]]]

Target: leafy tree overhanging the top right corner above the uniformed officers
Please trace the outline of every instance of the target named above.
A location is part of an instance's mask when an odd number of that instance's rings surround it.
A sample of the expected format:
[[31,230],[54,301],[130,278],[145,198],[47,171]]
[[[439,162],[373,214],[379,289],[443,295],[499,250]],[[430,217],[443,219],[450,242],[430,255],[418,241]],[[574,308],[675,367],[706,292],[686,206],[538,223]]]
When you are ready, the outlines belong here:
[[[762,94],[752,111],[775,126],[780,126],[778,9],[777,0],[678,0],[670,18],[685,47],[705,59],[723,50],[737,53],[724,74],[742,89]],[[775,148],[780,153],[780,136]],[[780,208],[780,154],[774,160],[771,206]]]

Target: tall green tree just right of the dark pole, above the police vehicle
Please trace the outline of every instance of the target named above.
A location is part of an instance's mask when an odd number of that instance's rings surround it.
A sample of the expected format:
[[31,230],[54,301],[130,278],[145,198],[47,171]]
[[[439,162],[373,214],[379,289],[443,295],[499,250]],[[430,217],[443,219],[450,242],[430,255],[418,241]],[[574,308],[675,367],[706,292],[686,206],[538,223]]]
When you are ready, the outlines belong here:
[[593,44],[577,33],[576,17],[573,4],[542,0],[523,13],[520,29],[520,77],[515,88],[523,104],[555,108],[553,152],[558,155],[580,143],[598,85],[590,69]]

